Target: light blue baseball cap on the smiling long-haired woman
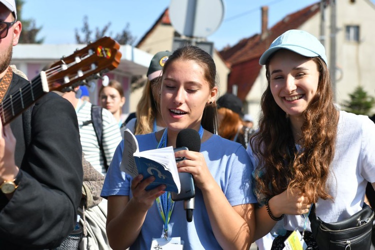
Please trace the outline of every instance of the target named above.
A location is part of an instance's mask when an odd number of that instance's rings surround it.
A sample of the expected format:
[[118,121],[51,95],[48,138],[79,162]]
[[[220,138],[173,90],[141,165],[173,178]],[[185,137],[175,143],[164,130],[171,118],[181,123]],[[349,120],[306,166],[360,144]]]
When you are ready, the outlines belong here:
[[320,56],[327,64],[323,44],[312,34],[299,29],[290,29],[278,36],[260,56],[259,64],[265,65],[268,58],[277,50],[284,48],[307,57]]

